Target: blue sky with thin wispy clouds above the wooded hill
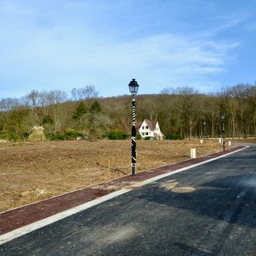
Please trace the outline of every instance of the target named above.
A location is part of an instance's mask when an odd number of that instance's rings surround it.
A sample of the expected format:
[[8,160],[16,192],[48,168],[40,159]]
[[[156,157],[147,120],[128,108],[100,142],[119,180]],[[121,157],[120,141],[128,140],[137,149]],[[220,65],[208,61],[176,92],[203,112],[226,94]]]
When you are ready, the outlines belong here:
[[0,0],[0,99],[256,81],[254,0]]

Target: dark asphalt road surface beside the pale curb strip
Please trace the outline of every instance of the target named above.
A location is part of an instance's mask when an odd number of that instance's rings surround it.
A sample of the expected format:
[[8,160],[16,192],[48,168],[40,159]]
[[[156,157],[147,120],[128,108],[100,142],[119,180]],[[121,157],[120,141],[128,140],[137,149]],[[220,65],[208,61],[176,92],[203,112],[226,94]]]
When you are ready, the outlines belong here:
[[256,146],[0,245],[1,255],[256,255]]

